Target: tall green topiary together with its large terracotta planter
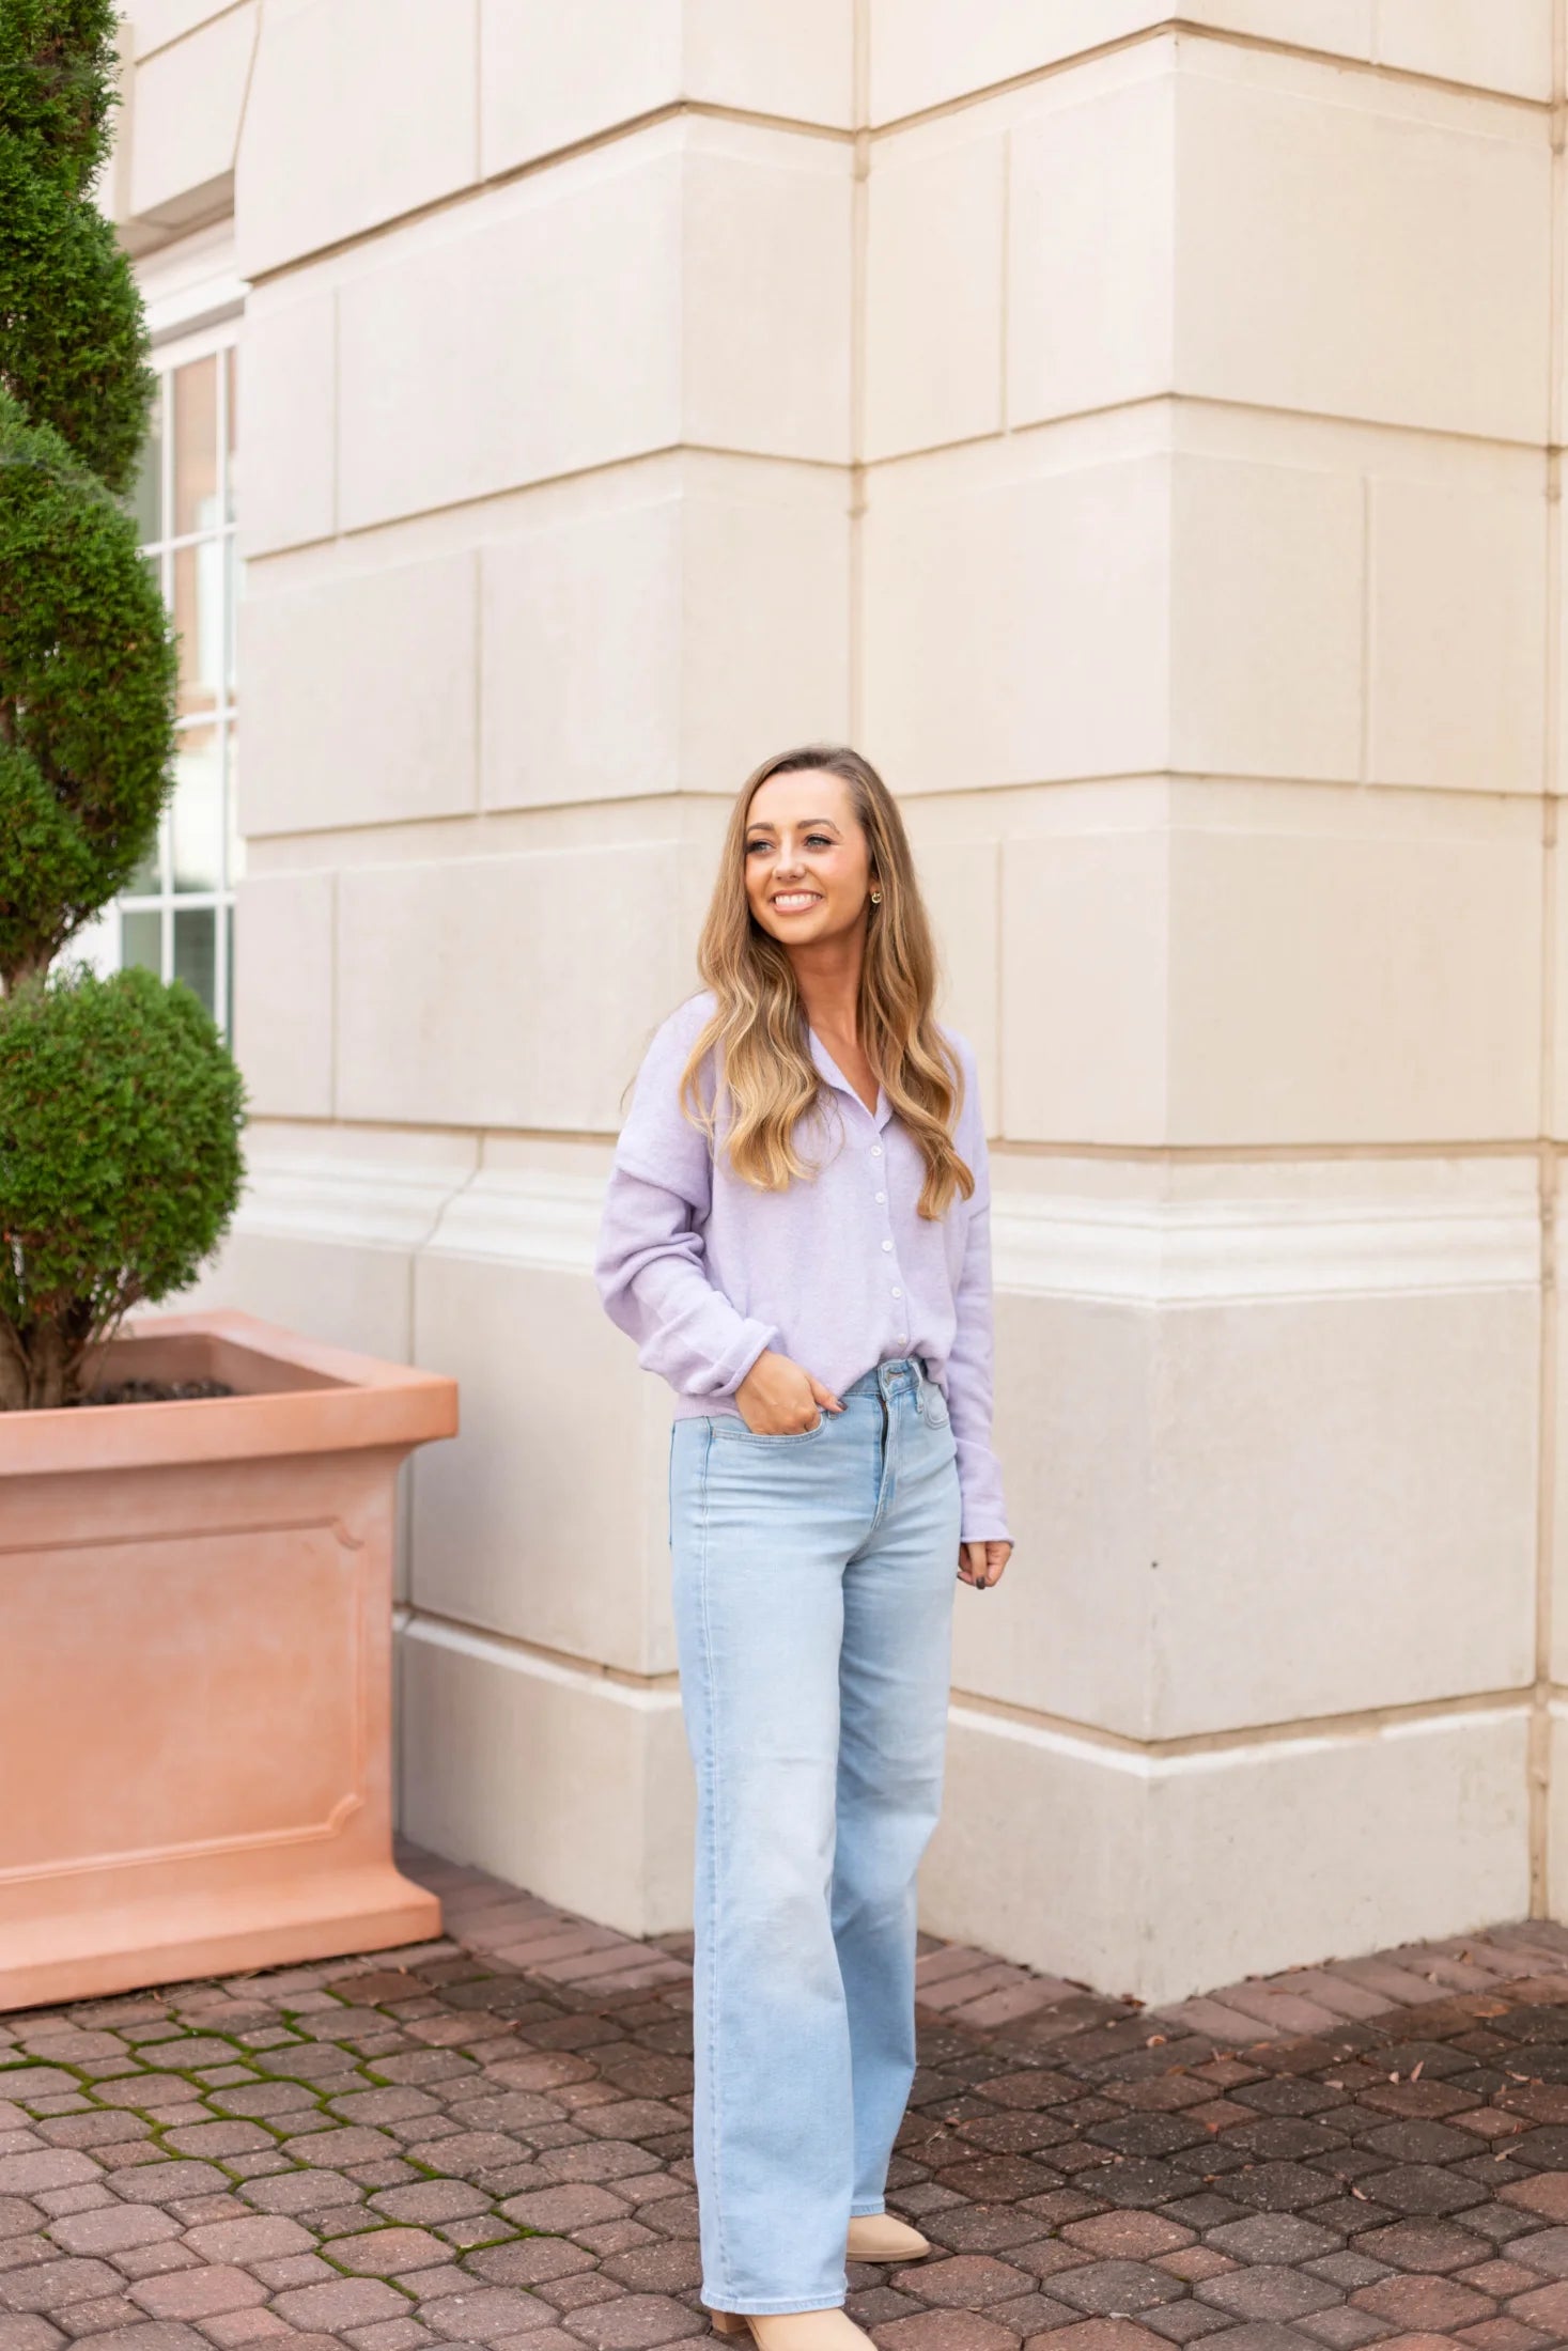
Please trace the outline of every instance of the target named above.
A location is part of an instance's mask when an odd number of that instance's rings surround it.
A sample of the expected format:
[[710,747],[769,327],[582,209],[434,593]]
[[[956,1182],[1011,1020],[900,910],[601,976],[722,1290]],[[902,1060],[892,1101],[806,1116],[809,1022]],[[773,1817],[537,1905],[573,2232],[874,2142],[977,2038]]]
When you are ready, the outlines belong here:
[[0,2008],[440,1928],[390,1857],[390,1561],[454,1382],[125,1321],[233,1215],[242,1081],[181,983],[61,962],[174,741],[113,38],[113,0],[0,7]]

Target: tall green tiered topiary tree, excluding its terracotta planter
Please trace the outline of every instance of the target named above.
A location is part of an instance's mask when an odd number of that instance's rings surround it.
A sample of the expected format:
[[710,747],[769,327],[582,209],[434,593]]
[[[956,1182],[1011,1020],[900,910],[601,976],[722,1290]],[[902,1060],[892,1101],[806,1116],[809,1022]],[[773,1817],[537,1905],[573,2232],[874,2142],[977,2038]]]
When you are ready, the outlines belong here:
[[92,183],[113,0],[0,0],[0,1411],[68,1404],[240,1197],[244,1098],[183,985],[49,971],[153,846],[176,654],[120,505],[153,376]]

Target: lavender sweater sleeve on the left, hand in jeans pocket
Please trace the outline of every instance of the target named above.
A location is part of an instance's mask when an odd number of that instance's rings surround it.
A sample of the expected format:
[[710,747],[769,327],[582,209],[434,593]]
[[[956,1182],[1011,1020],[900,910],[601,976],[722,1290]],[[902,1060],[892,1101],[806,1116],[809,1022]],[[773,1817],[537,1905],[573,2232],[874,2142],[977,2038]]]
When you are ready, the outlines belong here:
[[738,1314],[708,1279],[712,1161],[677,1096],[698,1027],[682,1006],[642,1060],[604,1194],[595,1284],[644,1371],[682,1396],[729,1396],[778,1331]]

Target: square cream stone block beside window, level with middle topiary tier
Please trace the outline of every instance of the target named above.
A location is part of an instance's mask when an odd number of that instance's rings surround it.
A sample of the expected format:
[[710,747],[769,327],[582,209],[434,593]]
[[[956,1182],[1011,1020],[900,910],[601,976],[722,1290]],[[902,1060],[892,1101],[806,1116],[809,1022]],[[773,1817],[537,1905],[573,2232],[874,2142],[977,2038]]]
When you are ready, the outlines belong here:
[[473,555],[247,597],[244,830],[473,809],[477,611]]

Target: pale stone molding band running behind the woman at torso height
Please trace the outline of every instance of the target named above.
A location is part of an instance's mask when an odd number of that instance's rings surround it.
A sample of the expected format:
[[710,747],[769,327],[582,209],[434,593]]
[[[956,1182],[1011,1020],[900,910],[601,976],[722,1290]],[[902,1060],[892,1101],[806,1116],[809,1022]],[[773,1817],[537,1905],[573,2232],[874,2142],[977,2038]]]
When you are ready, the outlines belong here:
[[[588,1274],[599,1176],[273,1157],[235,1230]],[[1140,1307],[1535,1288],[1533,1194],[1117,1201],[992,1192],[999,1291]]]

